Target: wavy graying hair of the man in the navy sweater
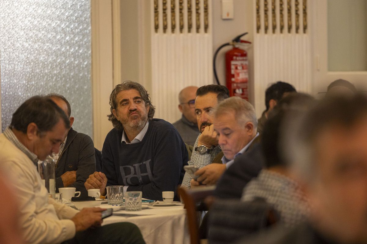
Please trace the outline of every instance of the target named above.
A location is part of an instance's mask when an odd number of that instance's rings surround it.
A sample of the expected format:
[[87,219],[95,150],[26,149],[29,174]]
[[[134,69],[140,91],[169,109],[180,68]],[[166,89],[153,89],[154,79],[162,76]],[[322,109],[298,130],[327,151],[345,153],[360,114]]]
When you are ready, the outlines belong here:
[[117,118],[115,117],[115,115],[113,115],[112,110],[113,109],[117,109],[117,94],[120,93],[120,91],[127,91],[127,90],[131,90],[131,89],[135,89],[139,92],[140,96],[142,97],[144,103],[145,103],[145,107],[148,108],[149,106],[149,112],[148,112],[148,120],[152,120],[154,113],[156,111],[155,106],[153,106],[152,102],[150,101],[150,97],[148,94],[148,91],[138,82],[134,82],[134,81],[130,81],[130,80],[126,80],[123,83],[116,85],[116,87],[112,90],[112,93],[110,95],[110,111],[111,113],[108,115],[108,120],[112,122],[113,127],[115,127],[116,129],[123,131],[124,127],[121,124],[121,122],[119,120],[117,120]]

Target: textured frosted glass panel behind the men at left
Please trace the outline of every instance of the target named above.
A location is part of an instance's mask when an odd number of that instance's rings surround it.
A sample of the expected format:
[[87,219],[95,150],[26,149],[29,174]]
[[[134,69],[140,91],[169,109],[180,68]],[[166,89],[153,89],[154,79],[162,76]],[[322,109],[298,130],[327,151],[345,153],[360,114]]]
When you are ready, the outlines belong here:
[[70,102],[73,128],[92,136],[90,0],[0,0],[2,129],[27,98]]

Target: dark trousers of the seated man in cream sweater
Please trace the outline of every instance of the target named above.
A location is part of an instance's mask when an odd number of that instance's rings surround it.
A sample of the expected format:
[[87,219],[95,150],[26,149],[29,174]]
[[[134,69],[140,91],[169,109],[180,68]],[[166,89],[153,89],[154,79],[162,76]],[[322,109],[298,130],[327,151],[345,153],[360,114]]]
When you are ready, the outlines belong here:
[[145,244],[138,226],[121,222],[77,232],[62,244]]

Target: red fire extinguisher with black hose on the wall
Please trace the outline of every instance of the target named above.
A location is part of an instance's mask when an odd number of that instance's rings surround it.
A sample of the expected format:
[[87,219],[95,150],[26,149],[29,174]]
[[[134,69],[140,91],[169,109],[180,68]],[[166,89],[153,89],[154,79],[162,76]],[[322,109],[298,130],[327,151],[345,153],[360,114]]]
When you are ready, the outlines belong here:
[[234,38],[232,42],[228,42],[220,46],[214,55],[213,67],[214,75],[219,85],[217,71],[215,69],[215,58],[221,48],[224,46],[232,45],[233,48],[226,52],[226,87],[229,90],[230,96],[236,96],[248,101],[248,61],[247,52],[237,47],[241,42],[251,43],[249,41],[240,40],[243,35],[241,34]]

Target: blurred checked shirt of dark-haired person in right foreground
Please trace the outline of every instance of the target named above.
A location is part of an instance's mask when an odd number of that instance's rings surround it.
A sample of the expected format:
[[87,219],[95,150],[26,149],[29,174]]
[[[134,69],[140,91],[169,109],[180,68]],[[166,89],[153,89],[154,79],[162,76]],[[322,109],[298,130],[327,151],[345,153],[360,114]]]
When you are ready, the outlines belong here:
[[261,197],[273,204],[280,213],[280,223],[292,227],[304,220],[308,214],[305,196],[298,184],[279,173],[263,169],[257,178],[252,179],[243,189],[241,201],[251,201]]

